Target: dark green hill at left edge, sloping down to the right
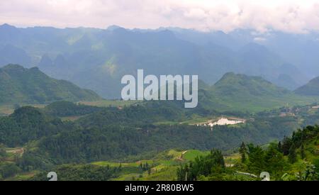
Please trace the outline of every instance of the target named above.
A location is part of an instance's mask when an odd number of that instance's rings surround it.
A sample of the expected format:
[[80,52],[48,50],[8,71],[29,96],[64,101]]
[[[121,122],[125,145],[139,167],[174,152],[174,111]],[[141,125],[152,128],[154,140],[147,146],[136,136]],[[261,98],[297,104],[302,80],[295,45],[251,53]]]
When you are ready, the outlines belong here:
[[94,101],[93,91],[48,77],[36,67],[7,65],[0,69],[0,104],[44,104],[52,101]]

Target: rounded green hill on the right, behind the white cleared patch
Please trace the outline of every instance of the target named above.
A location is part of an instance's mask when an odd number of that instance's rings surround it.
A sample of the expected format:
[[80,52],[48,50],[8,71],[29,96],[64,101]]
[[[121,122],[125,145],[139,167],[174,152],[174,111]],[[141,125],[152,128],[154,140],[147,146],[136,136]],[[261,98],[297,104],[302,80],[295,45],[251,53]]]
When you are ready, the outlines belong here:
[[219,111],[262,111],[281,106],[311,104],[317,99],[294,94],[262,77],[225,74],[211,88],[199,87],[199,104]]

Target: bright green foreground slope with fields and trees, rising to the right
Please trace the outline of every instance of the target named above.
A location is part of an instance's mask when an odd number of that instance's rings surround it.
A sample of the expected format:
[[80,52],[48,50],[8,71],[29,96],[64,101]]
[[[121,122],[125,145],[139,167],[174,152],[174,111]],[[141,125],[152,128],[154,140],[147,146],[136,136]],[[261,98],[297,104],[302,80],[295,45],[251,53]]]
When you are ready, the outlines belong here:
[[[308,126],[267,146],[242,143],[238,153],[228,156],[216,149],[211,152],[167,150],[150,160],[60,165],[50,170],[57,172],[62,181],[260,181],[262,172],[269,172],[271,180],[318,181],[318,144],[319,126]],[[50,170],[30,174],[25,179],[47,180]]]

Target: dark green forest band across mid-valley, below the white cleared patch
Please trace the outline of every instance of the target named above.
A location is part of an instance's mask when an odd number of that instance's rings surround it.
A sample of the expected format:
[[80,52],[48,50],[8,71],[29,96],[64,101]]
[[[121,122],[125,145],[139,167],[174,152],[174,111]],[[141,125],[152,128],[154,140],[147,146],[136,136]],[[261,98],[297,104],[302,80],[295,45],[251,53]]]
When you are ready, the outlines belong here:
[[[158,125],[158,121],[188,118],[177,104],[149,102],[136,106],[101,108],[58,102],[43,110],[22,107],[11,116],[0,118],[0,143],[26,148],[19,166],[24,171],[44,169],[72,162],[118,160],[145,152],[171,148],[229,150],[243,140],[267,143],[291,133],[287,123],[293,118],[256,118],[245,125],[211,128],[188,125]],[[62,122],[53,116],[89,113],[76,122]],[[52,114],[53,116],[50,116]],[[278,129],[281,129],[278,131]]]

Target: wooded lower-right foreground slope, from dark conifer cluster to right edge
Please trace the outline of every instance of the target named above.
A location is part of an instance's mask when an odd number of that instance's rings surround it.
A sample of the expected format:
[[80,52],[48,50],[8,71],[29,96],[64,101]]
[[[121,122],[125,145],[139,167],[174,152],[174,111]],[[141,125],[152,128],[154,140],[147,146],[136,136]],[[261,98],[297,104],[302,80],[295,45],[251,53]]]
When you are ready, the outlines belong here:
[[242,143],[239,152],[240,159],[228,167],[218,150],[196,157],[194,161],[179,167],[177,178],[182,181],[247,180],[247,177],[238,176],[246,173],[246,176],[251,176],[248,180],[260,180],[262,172],[269,172],[272,180],[319,180],[319,126],[297,130],[291,138],[270,143],[265,149]]

